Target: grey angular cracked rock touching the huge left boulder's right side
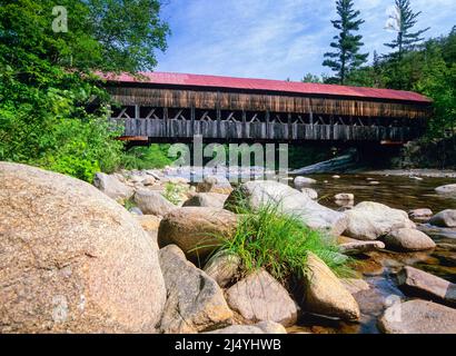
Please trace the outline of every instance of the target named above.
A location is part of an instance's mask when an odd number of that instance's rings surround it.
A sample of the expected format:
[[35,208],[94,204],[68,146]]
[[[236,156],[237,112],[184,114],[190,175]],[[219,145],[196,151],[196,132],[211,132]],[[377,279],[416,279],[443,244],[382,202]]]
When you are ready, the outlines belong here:
[[167,301],[160,322],[165,334],[194,334],[232,323],[224,293],[217,283],[186,259],[175,245],[160,250]]

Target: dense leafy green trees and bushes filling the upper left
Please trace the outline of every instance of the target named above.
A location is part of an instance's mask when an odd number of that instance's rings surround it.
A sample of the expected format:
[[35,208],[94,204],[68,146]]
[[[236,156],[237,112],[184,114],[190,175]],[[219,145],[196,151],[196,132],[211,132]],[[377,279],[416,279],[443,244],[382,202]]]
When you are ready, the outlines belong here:
[[69,29],[54,33],[56,4],[0,0],[0,160],[91,181],[118,167],[123,148],[91,71],[152,68],[168,28],[157,0],[62,0]]

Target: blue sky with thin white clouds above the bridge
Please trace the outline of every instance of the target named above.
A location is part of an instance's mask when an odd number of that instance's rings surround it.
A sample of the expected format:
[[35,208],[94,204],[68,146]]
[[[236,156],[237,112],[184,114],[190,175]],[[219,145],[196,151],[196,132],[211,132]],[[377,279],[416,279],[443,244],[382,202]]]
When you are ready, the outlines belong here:
[[[388,51],[395,37],[384,30],[393,0],[355,0],[366,23],[365,51]],[[423,11],[417,29],[427,37],[456,24],[456,0],[412,0]],[[328,72],[323,55],[336,34],[334,0],[166,0],[162,17],[171,27],[168,50],[157,71],[299,80]]]

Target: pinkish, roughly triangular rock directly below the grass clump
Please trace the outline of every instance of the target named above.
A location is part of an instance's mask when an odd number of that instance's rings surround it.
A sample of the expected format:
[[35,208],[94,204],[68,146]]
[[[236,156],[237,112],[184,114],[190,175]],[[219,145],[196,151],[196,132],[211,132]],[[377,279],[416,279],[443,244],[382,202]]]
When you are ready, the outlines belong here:
[[249,323],[276,322],[293,326],[298,309],[288,291],[266,270],[257,271],[226,291],[228,305]]

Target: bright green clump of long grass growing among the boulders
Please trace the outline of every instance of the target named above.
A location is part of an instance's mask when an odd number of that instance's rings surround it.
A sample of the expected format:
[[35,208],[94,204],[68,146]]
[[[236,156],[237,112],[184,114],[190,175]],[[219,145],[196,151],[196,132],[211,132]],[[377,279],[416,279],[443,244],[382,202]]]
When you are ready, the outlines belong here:
[[236,234],[218,250],[240,257],[246,274],[265,268],[286,283],[306,273],[309,253],[321,258],[338,276],[353,276],[350,259],[339,253],[335,239],[306,226],[278,205],[265,205],[255,211],[242,209]]

